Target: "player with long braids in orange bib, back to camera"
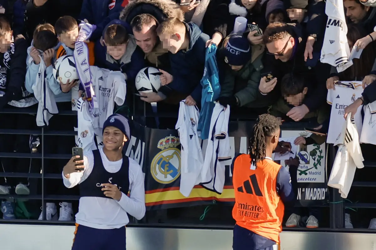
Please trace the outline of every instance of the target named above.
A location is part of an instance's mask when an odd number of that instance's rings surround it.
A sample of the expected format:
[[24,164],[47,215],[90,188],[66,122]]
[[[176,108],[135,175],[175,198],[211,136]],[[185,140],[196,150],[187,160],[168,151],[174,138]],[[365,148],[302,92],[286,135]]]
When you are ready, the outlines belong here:
[[[233,250],[279,249],[284,204],[295,201],[290,173],[271,159],[273,151],[291,149],[289,143],[278,146],[279,124],[272,115],[260,115],[249,141],[250,153],[233,160]],[[287,161],[291,166],[294,162],[299,161]]]

